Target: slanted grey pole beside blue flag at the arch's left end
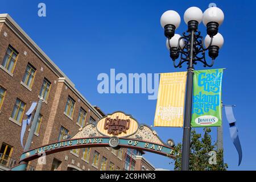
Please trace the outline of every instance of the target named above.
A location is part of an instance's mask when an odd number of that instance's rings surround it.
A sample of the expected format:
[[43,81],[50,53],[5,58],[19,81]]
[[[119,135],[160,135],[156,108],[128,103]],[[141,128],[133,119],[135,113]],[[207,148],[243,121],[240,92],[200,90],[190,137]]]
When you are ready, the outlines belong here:
[[[39,118],[39,115],[40,115],[40,110],[41,110],[41,107],[42,107],[42,104],[43,104],[43,100],[44,100],[43,97],[40,97],[40,99],[38,101],[38,106],[36,107],[36,112],[35,112],[35,115],[34,115],[34,118],[33,118],[33,121],[32,121],[32,125],[31,125],[31,128],[30,128],[30,133],[28,134],[27,142],[25,144],[23,152],[26,152],[26,151],[30,150],[30,146],[31,146],[31,143],[32,143],[32,139],[34,137],[34,133],[35,133],[35,129],[36,129],[36,123],[38,122],[38,118]],[[32,111],[31,111],[31,113],[32,113]],[[11,171],[26,171],[26,169],[27,169],[27,163],[22,162],[22,163],[19,163],[18,166],[12,168]]]

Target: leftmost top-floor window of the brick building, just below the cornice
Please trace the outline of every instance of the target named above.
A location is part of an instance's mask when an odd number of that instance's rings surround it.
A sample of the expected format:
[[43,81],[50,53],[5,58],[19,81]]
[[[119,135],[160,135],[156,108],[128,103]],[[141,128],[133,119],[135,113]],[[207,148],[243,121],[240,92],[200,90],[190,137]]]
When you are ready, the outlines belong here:
[[3,58],[2,66],[10,73],[13,73],[16,61],[18,59],[18,52],[11,46],[7,48],[5,57]]

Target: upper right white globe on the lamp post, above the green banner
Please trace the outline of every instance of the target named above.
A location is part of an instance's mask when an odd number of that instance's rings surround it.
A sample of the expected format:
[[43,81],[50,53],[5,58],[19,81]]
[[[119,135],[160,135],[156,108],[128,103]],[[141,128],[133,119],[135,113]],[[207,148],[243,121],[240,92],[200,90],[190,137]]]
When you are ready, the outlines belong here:
[[207,10],[204,11],[203,14],[203,23],[207,26],[209,22],[217,22],[220,26],[224,21],[224,13],[218,7],[209,7]]

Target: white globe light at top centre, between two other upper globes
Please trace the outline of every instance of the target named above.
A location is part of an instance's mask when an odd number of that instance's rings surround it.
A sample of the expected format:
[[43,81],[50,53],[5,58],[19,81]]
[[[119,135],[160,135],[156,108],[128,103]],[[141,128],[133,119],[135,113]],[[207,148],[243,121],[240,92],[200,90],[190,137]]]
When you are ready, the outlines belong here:
[[191,20],[196,20],[198,23],[201,23],[203,19],[203,11],[198,7],[189,7],[184,13],[184,21],[188,24]]

